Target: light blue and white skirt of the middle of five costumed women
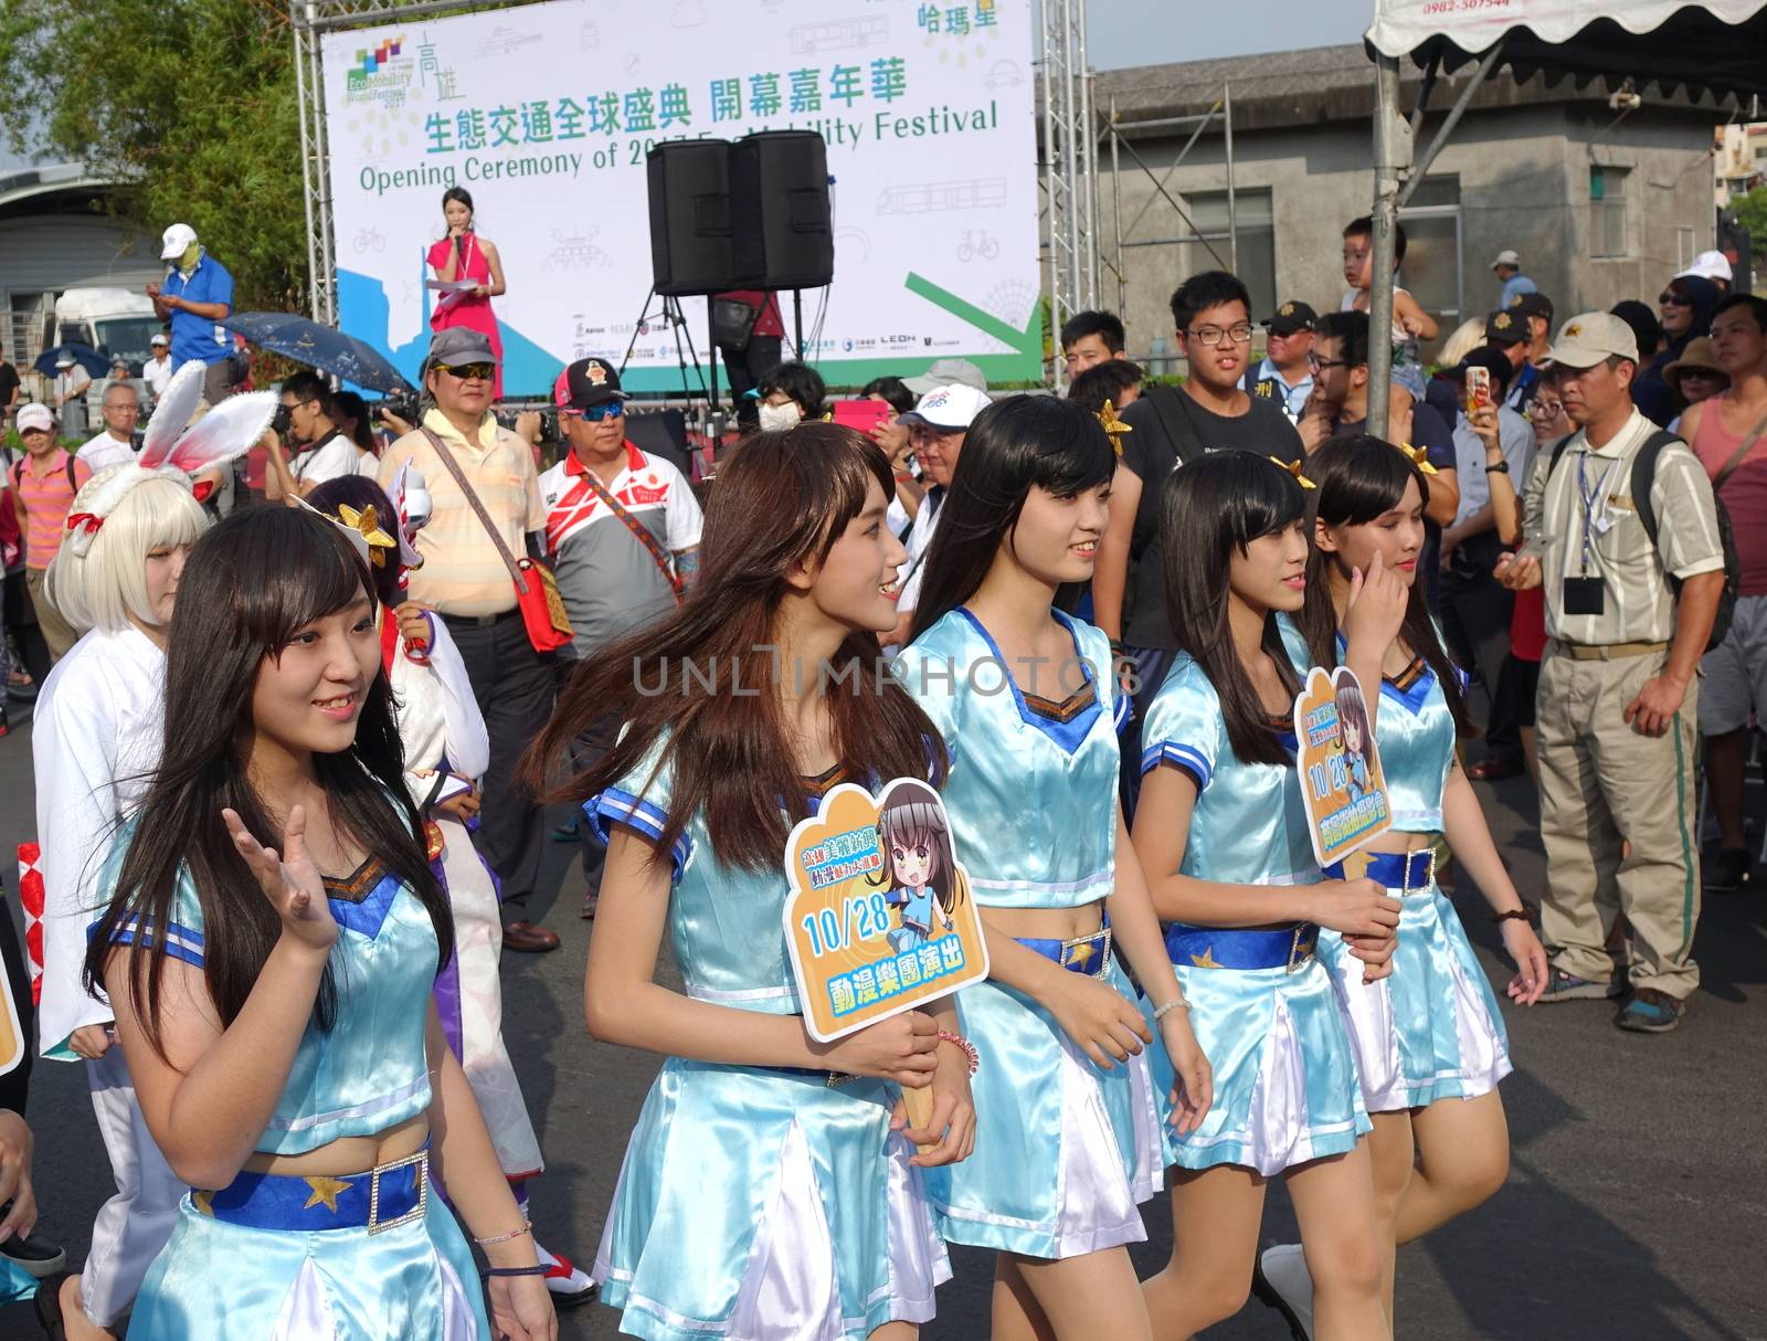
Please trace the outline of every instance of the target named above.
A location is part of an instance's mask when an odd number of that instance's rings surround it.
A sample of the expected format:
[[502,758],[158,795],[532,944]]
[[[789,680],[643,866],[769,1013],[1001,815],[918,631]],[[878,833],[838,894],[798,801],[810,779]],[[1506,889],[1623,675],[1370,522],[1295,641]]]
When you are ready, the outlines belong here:
[[[1134,1000],[1108,933],[1020,943]],[[1106,1071],[1043,1005],[998,982],[959,991],[958,1016],[981,1069],[975,1154],[926,1171],[945,1239],[1046,1260],[1147,1239],[1136,1205],[1159,1191],[1166,1117],[1147,1051]]]

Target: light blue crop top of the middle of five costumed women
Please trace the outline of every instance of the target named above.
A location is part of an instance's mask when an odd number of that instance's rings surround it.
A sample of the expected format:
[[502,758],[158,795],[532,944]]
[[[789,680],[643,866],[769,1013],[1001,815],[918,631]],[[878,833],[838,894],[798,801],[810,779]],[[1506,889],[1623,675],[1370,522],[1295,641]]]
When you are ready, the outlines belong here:
[[1067,705],[1027,700],[988,629],[952,610],[896,659],[951,753],[945,811],[984,908],[1078,908],[1117,878],[1117,723],[1110,640],[1060,611]]

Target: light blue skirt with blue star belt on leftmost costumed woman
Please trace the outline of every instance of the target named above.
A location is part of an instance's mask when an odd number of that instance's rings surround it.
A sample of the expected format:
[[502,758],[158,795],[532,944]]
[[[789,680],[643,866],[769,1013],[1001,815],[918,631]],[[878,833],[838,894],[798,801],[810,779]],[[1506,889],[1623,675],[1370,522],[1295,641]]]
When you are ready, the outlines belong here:
[[191,1193],[136,1295],[129,1341],[491,1341],[452,1212],[415,1163],[378,1182],[240,1173]]

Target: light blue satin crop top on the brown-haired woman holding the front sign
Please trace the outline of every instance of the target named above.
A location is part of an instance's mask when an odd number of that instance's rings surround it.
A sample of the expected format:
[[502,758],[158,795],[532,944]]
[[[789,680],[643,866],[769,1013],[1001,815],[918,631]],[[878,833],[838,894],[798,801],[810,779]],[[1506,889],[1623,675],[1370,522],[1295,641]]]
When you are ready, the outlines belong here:
[[[661,756],[657,744],[626,777],[583,804],[603,841],[610,823],[661,841],[673,779],[670,767],[657,769]],[[843,770],[813,779],[813,793],[825,793],[841,781],[846,781]],[[712,852],[701,809],[670,850],[670,945],[687,995],[742,1011],[802,1014],[785,942],[785,901],[792,892],[785,853],[777,866],[760,873],[724,866]]]

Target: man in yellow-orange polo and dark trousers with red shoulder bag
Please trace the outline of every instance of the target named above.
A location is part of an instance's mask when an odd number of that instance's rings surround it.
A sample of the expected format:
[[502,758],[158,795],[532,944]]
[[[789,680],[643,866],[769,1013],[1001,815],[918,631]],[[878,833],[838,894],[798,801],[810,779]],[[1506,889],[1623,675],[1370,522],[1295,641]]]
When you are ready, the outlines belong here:
[[551,714],[553,654],[535,652],[528,641],[509,567],[428,436],[442,440],[509,553],[539,553],[528,542],[546,527],[534,449],[491,415],[495,371],[482,334],[466,327],[436,332],[424,360],[424,390],[435,405],[380,458],[378,477],[389,488],[410,461],[429,488],[435,511],[417,534],[424,564],[410,574],[410,594],[442,617],[466,663],[491,737],[479,843],[502,885],[504,947],[534,952],[558,949],[558,933],[528,921],[544,834],[541,807],[518,779],[516,761]]

